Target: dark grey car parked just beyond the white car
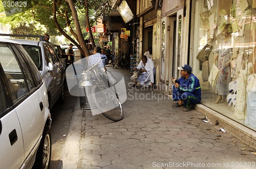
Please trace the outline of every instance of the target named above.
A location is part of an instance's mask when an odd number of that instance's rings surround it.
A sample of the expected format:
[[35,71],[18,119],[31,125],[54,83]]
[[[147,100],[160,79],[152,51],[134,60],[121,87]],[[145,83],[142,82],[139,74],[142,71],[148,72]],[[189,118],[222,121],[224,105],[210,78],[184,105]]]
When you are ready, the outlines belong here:
[[45,41],[13,39],[23,45],[45,81],[48,91],[49,108],[64,100],[66,62],[59,59],[55,48]]

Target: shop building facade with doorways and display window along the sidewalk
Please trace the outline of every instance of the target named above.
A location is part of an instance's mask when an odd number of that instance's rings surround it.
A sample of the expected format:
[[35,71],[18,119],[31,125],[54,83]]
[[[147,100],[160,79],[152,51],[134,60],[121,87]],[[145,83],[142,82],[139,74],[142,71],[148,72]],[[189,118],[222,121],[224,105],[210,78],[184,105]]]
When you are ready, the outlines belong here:
[[201,104],[255,133],[256,0],[136,2],[125,24],[133,32],[130,53],[141,58],[152,46],[158,89],[171,93],[177,67],[189,64],[200,79]]

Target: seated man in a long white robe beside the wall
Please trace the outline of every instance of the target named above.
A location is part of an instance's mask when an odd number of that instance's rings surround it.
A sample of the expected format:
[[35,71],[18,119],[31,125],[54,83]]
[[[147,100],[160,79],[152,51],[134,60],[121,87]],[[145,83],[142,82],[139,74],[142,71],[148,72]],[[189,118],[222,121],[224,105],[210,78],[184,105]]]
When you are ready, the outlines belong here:
[[145,55],[142,56],[142,59],[135,69],[139,69],[142,73],[135,79],[133,87],[140,82],[140,85],[151,85],[151,88],[154,87],[154,62],[151,59],[147,59]]

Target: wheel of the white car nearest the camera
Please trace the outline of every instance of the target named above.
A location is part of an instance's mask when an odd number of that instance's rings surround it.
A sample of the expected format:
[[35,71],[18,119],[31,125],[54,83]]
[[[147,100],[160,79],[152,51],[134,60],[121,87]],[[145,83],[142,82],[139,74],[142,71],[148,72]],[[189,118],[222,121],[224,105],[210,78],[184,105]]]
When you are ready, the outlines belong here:
[[36,152],[33,168],[49,169],[51,161],[51,150],[51,133],[49,127],[46,126],[44,133],[42,133],[41,142]]

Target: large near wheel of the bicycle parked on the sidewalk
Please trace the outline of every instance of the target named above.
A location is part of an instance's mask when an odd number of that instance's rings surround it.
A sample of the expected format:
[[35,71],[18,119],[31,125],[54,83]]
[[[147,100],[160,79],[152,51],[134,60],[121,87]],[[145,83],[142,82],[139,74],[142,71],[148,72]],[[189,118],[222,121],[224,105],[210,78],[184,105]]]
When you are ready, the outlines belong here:
[[96,107],[106,118],[115,122],[122,120],[122,105],[111,88],[101,90],[95,85],[92,92]]

